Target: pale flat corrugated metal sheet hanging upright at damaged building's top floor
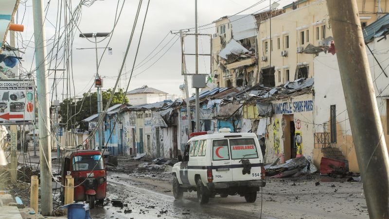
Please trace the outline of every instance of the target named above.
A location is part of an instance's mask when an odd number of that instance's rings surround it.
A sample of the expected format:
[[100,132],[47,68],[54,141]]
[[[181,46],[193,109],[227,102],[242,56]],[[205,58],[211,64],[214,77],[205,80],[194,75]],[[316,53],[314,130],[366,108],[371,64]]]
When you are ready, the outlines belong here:
[[232,38],[235,40],[257,36],[257,20],[253,15],[233,15],[228,19],[232,26]]

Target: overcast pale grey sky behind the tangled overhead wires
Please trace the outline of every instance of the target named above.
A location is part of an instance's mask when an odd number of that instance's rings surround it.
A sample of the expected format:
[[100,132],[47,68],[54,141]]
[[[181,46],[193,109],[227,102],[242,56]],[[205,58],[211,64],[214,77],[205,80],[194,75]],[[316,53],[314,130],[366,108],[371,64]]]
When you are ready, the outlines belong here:
[[[63,0],[63,2],[64,1],[65,0]],[[69,2],[69,0],[67,1]],[[274,0],[271,0],[271,2],[273,1]],[[46,39],[52,38],[55,33],[55,23],[57,17],[59,16],[57,14],[58,2],[60,4],[61,0],[51,0],[49,4],[47,0],[44,0],[44,7],[47,7],[47,21],[45,22]],[[119,8],[121,7],[122,2],[123,0],[120,0]],[[109,47],[112,48],[113,54],[108,55],[108,53],[106,52],[99,67],[100,75],[102,75],[103,77],[107,77],[104,78],[104,89],[112,88],[116,81],[120,66],[123,61],[123,54],[125,52],[130,36],[138,2],[138,0],[125,0],[124,2],[122,15],[114,30],[112,40],[109,43]],[[257,2],[258,0],[198,0],[199,26],[202,24],[211,23],[213,20],[216,20],[226,15],[233,15]],[[281,3],[281,6],[289,4],[291,2],[292,0],[279,1],[279,3]],[[78,3],[79,0],[72,0],[73,10]],[[95,1],[90,7],[83,6],[81,22],[79,23],[80,30],[83,33],[110,32],[113,28],[117,3],[117,0],[99,0]],[[131,69],[132,63],[134,61],[134,54],[139,40],[141,21],[143,20],[146,4],[147,1],[144,0],[142,7],[143,10],[141,11],[141,17],[139,18],[141,20],[139,21],[129,55],[126,59],[127,71]],[[250,14],[266,8],[268,9],[268,5],[269,1],[265,0],[263,3],[256,5],[255,7],[245,12],[242,12],[241,14]],[[170,30],[194,27],[194,6],[194,0],[151,0],[141,39],[137,63],[139,63],[148,54],[150,54],[150,52],[158,45],[158,43],[163,39],[163,37],[165,37],[168,32],[170,32]],[[26,47],[29,39],[33,36],[34,33],[31,0],[26,0],[25,4],[21,3],[19,5],[17,17],[18,23],[24,24],[25,26],[24,32],[21,33],[21,36],[24,40],[24,46],[22,46],[21,44],[21,38],[18,37],[18,47]],[[63,21],[61,26],[63,26]],[[214,25],[207,26],[206,28],[209,27],[213,28],[201,30],[200,33],[214,33]],[[75,93],[81,95],[83,92],[88,91],[88,88],[92,83],[91,80],[92,78],[94,78],[93,75],[96,73],[96,59],[95,50],[76,49],[94,47],[94,43],[89,42],[85,38],[79,38],[79,33],[80,32],[78,30],[75,31],[76,37],[72,46],[72,68]],[[174,36],[175,35],[169,34],[162,42],[162,45],[168,43],[168,41]],[[172,48],[168,52],[166,52],[165,55],[162,56],[162,54],[176,41],[177,38],[177,36],[173,38],[172,41],[170,41],[170,43],[158,55],[155,55],[149,62],[145,63],[139,69],[134,71],[134,75],[138,73],[140,74],[132,78],[129,86],[129,91],[141,87],[142,85],[148,85],[149,87],[153,87],[161,91],[166,91],[170,94],[180,94],[180,90],[178,87],[180,84],[183,84],[183,76],[180,72],[181,49],[179,40],[177,40],[177,42],[172,46]],[[34,40],[34,38],[32,39]],[[48,44],[50,44],[50,42],[52,41],[48,40]],[[104,40],[101,43],[98,43],[98,47],[106,47],[107,42],[108,39]],[[203,46],[205,50],[208,45],[207,43],[209,43],[209,40],[204,39],[203,41],[201,41],[201,44],[199,44],[199,47]],[[193,43],[191,42],[186,42],[186,45],[187,48],[189,48],[190,45],[192,45],[193,48]],[[28,71],[31,69],[31,66],[33,66],[33,69],[35,66],[35,61],[33,62],[33,47],[34,43],[30,42],[28,44],[28,48],[26,49],[26,54],[22,55],[22,65]],[[47,49],[50,50],[51,48],[52,46],[48,45]],[[159,48],[161,48],[161,46]],[[159,49],[157,49],[150,57],[152,57],[158,51]],[[100,58],[103,49],[99,49],[98,52]],[[152,65],[159,57],[159,61]],[[202,65],[204,67],[205,62],[209,63],[209,59],[205,61],[202,58],[199,58],[199,65]],[[61,64],[59,68],[63,68],[63,65]],[[188,70],[191,72],[191,69]],[[194,69],[192,70],[192,72],[193,71]],[[209,71],[207,73],[209,73]],[[53,75],[51,75],[49,78],[52,77]],[[124,76],[122,76],[122,78],[124,78]],[[129,74],[127,79],[128,78]],[[49,80],[49,87],[52,86],[52,83],[53,80]],[[121,84],[122,87],[124,87],[127,84],[127,81],[122,80]],[[71,87],[73,87],[73,85],[71,85]],[[65,91],[62,91],[62,81],[59,82],[57,89],[58,95],[66,93],[66,88]],[[71,95],[73,96],[73,88],[71,90]],[[62,99],[62,97],[58,99]]]

